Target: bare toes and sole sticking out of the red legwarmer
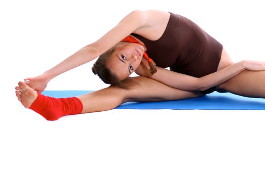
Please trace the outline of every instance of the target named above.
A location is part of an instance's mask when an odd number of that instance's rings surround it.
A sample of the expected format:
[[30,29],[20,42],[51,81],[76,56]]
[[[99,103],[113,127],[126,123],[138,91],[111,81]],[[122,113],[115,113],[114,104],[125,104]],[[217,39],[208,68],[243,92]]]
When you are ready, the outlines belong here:
[[38,94],[33,89],[31,89],[31,87],[29,87],[22,81],[18,82],[18,86],[16,86],[15,89],[18,100],[26,108],[30,107],[38,96]]

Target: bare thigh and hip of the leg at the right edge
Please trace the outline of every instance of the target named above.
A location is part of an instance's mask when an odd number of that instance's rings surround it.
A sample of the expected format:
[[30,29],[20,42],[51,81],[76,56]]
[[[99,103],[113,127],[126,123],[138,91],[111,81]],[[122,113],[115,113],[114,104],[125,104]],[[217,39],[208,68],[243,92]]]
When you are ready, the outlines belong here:
[[[218,69],[223,69],[233,62],[223,50]],[[230,80],[217,86],[218,92],[231,92],[236,95],[253,98],[265,98],[265,71],[244,70]]]

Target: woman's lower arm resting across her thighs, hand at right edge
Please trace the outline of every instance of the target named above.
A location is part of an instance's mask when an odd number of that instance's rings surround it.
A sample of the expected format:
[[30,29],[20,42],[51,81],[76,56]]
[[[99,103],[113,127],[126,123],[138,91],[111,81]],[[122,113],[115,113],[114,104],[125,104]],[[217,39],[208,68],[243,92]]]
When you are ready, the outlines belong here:
[[153,75],[148,75],[149,78],[184,91],[205,91],[231,79],[245,69],[252,71],[265,70],[265,64],[264,62],[244,60],[200,78],[173,72],[161,67],[156,67],[156,69],[157,72]]

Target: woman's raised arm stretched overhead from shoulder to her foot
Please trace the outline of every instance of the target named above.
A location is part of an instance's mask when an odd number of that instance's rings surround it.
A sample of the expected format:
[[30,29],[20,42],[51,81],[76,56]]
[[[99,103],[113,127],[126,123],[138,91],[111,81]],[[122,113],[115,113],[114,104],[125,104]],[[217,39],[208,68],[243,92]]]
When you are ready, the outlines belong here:
[[28,77],[24,80],[32,89],[41,93],[49,80],[52,78],[71,70],[77,66],[85,64],[93,59],[97,58],[99,55],[105,51],[111,49],[124,37],[140,30],[142,27],[145,27],[147,24],[147,19],[150,13],[142,11],[133,11],[124,17],[113,29],[104,34],[97,41],[85,46],[80,49],[55,67],[45,71],[43,74],[37,77]]

